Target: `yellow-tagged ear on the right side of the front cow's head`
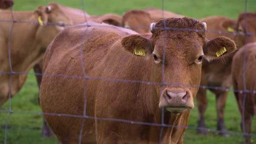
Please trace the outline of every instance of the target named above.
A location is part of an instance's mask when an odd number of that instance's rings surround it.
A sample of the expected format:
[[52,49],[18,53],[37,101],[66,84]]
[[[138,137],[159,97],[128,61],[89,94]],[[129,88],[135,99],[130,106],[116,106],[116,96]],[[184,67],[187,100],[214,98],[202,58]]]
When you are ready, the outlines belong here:
[[236,44],[233,40],[227,38],[226,36],[219,36],[208,41],[203,46],[203,54],[205,58],[210,61],[212,59],[228,56],[232,52],[236,51],[236,49]]

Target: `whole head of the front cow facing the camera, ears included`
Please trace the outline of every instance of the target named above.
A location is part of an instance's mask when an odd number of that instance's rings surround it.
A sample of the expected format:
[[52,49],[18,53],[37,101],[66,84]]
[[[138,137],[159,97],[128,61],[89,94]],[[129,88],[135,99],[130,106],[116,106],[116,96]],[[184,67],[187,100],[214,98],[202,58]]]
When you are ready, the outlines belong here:
[[[165,26],[197,29],[199,32],[164,30]],[[154,82],[164,82],[164,85],[155,86],[160,108],[166,108],[170,112],[194,108],[202,60],[218,59],[236,50],[236,44],[224,36],[209,41],[205,30],[206,23],[191,18],[168,18],[151,24],[151,37],[130,35],[122,38],[122,46],[128,52],[138,54],[139,50],[150,58],[148,62],[153,63]],[[226,49],[224,53],[223,47]]]

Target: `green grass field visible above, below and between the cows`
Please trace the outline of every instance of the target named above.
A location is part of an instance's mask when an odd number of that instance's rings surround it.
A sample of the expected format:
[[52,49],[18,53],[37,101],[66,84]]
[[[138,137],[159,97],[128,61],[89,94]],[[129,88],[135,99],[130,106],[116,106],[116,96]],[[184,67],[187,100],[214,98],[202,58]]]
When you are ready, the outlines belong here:
[[[35,10],[39,5],[46,5],[51,0],[14,0],[14,10]],[[82,9],[82,0],[56,0],[69,7]],[[161,0],[85,0],[85,10],[89,14],[101,15],[104,13],[117,13],[131,9],[143,9],[147,7],[162,7]],[[256,0],[248,0],[247,11],[256,12]],[[236,19],[239,13],[245,10],[244,0],[164,0],[164,10],[179,13],[187,17],[202,18],[205,16],[221,15]],[[31,70],[31,72],[33,72]],[[13,111],[36,111],[41,112],[37,103],[38,87],[34,75],[29,75],[22,90],[15,95],[11,101]],[[208,109],[206,112],[207,127],[216,129],[217,114],[215,109],[215,96],[208,92]],[[2,107],[1,111],[9,110],[9,101]],[[0,113],[0,144],[4,143],[5,130],[9,113]],[[189,126],[197,126],[197,107],[190,114]],[[233,92],[229,93],[226,110],[225,123],[229,131],[241,132],[240,113],[238,111]],[[39,114],[11,114],[10,128],[7,130],[7,144],[57,144],[56,139],[42,138],[42,115]],[[256,133],[256,121],[252,132]],[[184,137],[185,144],[238,144],[242,136],[230,135],[228,138],[219,137],[214,132],[208,136],[198,136],[196,130],[187,129]],[[256,141],[256,137],[253,137]]]

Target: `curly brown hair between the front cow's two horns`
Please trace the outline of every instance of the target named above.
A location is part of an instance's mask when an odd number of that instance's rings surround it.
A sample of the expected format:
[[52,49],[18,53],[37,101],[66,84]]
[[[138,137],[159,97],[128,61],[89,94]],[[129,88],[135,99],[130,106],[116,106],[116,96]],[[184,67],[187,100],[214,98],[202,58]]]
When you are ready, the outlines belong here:
[[[164,20],[158,21],[154,29],[152,30],[152,36],[159,36],[161,32],[164,31],[164,24],[167,28],[183,28],[184,30],[173,30],[173,29],[168,29],[168,31],[171,32],[189,32],[189,33],[198,33],[199,36],[205,37],[206,34],[204,32],[204,25],[200,23],[198,20],[189,18],[189,17],[182,17],[182,18],[167,18]],[[199,32],[196,31],[188,31],[186,29],[197,29]]]

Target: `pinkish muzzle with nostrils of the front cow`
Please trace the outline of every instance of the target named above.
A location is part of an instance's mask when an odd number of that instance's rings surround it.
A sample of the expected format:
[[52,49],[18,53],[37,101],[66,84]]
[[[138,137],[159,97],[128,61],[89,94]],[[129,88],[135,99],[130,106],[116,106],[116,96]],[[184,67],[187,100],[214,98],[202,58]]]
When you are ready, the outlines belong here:
[[187,108],[194,108],[193,95],[188,89],[165,88],[160,96],[159,108],[181,113]]

